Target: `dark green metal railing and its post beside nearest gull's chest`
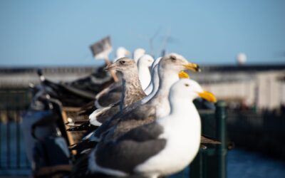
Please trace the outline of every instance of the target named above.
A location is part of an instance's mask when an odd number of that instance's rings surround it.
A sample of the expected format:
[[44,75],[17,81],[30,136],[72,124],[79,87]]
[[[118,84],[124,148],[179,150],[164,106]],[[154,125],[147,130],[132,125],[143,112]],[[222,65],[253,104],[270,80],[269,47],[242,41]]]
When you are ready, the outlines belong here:
[[191,178],[226,178],[227,177],[227,105],[219,101],[213,113],[200,112],[202,133],[216,138],[220,145],[200,149],[195,160],[190,164]]

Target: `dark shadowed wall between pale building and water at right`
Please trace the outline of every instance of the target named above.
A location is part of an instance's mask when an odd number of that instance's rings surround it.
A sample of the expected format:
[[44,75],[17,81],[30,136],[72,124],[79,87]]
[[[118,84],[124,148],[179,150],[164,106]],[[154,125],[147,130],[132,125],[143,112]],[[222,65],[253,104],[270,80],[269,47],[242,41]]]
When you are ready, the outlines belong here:
[[237,147],[285,160],[285,107],[263,112],[229,112],[229,138]]

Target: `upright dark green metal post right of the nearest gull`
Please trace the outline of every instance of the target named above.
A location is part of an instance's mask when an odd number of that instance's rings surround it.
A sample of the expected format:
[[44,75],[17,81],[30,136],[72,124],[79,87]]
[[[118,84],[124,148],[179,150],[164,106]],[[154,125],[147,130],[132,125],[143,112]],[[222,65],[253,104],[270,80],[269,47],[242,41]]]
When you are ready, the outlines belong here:
[[219,101],[216,105],[217,118],[217,139],[221,145],[217,147],[218,155],[218,177],[227,177],[227,104],[224,101]]

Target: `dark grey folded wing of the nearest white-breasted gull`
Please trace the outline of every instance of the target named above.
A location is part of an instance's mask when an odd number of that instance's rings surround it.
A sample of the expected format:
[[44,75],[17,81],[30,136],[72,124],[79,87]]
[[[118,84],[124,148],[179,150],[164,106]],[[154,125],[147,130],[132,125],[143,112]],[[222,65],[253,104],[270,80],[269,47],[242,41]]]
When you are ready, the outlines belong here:
[[152,123],[131,130],[116,141],[100,142],[95,161],[101,167],[132,174],[138,164],[165,148],[166,140],[158,138],[162,132],[160,125]]

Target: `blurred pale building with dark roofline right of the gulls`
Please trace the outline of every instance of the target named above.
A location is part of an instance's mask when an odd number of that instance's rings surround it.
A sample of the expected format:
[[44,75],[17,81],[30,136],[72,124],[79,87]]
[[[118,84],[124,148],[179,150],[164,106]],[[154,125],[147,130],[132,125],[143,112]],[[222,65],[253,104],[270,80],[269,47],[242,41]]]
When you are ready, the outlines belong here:
[[274,109],[285,104],[285,65],[206,66],[191,77],[220,100]]

